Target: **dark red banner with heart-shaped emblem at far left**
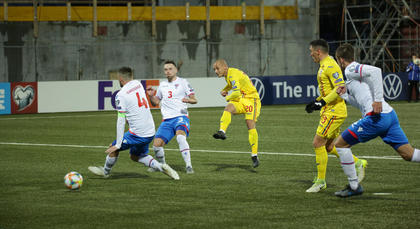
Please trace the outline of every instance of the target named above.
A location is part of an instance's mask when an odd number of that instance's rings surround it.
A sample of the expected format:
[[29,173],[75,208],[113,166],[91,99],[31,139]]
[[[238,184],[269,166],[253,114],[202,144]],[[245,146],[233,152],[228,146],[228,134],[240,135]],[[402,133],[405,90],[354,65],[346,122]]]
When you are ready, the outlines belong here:
[[38,113],[38,83],[11,83],[12,114]]

